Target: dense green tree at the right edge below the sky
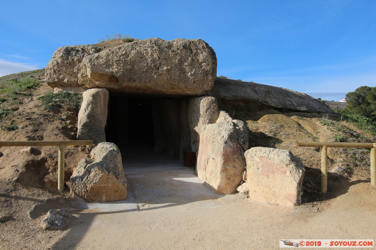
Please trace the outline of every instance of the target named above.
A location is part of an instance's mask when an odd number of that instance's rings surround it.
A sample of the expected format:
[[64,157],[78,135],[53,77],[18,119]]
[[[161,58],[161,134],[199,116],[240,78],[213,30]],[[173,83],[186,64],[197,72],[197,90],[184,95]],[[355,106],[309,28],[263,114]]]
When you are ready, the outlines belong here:
[[347,111],[376,119],[376,87],[362,86],[346,94]]

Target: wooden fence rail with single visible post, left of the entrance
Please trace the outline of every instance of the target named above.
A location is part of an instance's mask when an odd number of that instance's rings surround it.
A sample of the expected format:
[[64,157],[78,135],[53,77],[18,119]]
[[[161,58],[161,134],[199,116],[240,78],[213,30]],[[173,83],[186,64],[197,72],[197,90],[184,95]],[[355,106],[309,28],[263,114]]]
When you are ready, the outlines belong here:
[[0,147],[59,146],[58,189],[64,190],[65,146],[93,145],[92,141],[0,141]]

